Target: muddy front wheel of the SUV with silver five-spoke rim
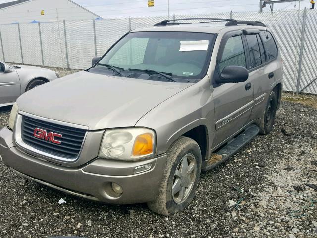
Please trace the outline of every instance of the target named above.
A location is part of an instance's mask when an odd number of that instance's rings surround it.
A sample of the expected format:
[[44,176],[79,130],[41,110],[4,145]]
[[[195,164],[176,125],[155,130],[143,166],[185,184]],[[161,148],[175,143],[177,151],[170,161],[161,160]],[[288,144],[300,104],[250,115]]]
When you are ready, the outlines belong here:
[[[188,137],[177,139],[167,153],[168,157],[159,195],[155,201],[147,203],[150,210],[165,216],[182,211],[191,203],[202,164],[199,145]],[[188,167],[186,167],[186,164]],[[183,175],[182,170],[187,172],[186,176]]]

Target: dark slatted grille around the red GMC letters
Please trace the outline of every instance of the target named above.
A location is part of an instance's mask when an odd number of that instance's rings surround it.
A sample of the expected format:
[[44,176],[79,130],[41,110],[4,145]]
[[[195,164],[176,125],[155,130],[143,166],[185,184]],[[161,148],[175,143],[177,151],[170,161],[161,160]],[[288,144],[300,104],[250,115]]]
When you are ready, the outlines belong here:
[[[47,133],[53,132],[61,134],[58,138],[60,144],[49,140],[36,138],[34,130],[36,128],[46,130]],[[74,159],[77,158],[81,150],[86,130],[59,125],[23,115],[21,124],[21,137],[25,144],[33,148],[55,156]]]

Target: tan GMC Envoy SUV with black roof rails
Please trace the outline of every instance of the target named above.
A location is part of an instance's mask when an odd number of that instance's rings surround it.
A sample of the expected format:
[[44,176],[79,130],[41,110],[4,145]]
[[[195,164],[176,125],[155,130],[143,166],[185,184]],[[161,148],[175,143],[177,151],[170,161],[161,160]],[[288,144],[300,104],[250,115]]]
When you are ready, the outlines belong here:
[[272,130],[283,77],[263,23],[188,21],[133,30],[91,68],[19,97],[3,163],[78,197],[185,209],[201,171]]

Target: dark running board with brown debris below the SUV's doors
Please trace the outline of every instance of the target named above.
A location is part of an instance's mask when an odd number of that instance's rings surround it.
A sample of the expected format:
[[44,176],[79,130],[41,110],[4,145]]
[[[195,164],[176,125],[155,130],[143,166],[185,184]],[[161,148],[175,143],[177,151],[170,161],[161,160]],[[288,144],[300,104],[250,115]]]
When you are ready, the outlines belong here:
[[228,144],[219,151],[212,153],[210,158],[203,164],[202,170],[210,170],[226,161],[230,156],[232,156],[240,148],[257,136],[259,131],[260,129],[256,125],[250,125],[247,127],[244,132],[242,132],[233,140],[229,141]]

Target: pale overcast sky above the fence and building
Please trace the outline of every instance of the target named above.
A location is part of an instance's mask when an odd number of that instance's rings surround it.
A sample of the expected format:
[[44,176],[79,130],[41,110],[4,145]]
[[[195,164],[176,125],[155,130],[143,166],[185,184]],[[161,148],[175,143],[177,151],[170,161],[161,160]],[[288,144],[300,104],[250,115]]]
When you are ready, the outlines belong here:
[[[0,0],[0,3],[11,0]],[[159,16],[167,15],[167,0],[154,0],[154,7],[147,7],[148,0],[73,0],[77,4],[102,16],[103,18],[127,16]],[[274,10],[298,9],[298,0],[294,2],[275,4]],[[301,8],[310,8],[308,0],[301,2]],[[204,14],[229,11],[258,11],[259,0],[169,0],[170,15]],[[264,8],[269,10],[269,6]]]

